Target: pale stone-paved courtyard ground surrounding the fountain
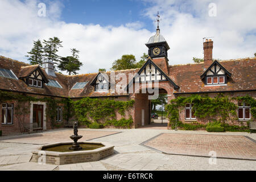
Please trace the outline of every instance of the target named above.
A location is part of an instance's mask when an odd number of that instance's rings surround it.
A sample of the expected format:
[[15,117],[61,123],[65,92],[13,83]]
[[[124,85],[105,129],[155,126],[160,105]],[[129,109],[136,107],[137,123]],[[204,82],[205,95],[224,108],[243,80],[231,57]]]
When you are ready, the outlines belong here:
[[[56,140],[57,142],[62,140],[69,141],[69,135],[71,135],[72,132],[72,129],[64,129],[47,131],[43,134],[38,133],[22,136],[1,137],[0,170],[256,170],[256,160],[217,158],[216,163],[209,163],[211,160],[209,155],[208,157],[172,155],[171,152],[164,151],[166,153],[170,153],[166,154],[144,145],[146,144],[145,142],[149,145],[150,142],[154,142],[155,139],[159,139],[158,137],[164,137],[165,140],[172,140],[172,138],[174,138],[173,136],[177,135],[180,138],[183,138],[179,140],[183,140],[183,142],[185,142],[186,137],[183,136],[195,136],[192,137],[192,139],[197,138],[198,140],[200,137],[206,135],[203,137],[203,140],[206,140],[207,138],[218,138],[218,140],[220,140],[222,138],[229,141],[231,139],[230,135],[232,135],[236,138],[236,142],[242,142],[240,147],[246,147],[247,150],[251,152],[251,150],[255,151],[255,149],[250,147],[248,148],[246,143],[248,142],[251,147],[255,147],[255,144],[250,143],[253,141],[243,136],[256,140],[256,134],[220,134],[207,133],[206,131],[159,130],[157,128],[131,130],[79,129],[79,134],[84,135],[85,137],[84,140],[108,142],[113,144],[115,146],[115,154],[100,160],[99,162],[68,164],[61,166],[48,164],[40,165],[38,163],[29,162],[32,151],[37,150],[44,143],[54,143]],[[191,137],[189,138],[191,139]],[[175,144],[175,141],[173,142]],[[223,142],[223,144],[224,143],[225,142]],[[163,140],[160,142],[159,139],[158,147],[164,145]],[[232,144],[230,145],[232,146]],[[170,143],[167,142],[166,146],[170,147]],[[233,143],[233,146],[237,146],[237,143]],[[237,150],[239,150],[238,146]]]

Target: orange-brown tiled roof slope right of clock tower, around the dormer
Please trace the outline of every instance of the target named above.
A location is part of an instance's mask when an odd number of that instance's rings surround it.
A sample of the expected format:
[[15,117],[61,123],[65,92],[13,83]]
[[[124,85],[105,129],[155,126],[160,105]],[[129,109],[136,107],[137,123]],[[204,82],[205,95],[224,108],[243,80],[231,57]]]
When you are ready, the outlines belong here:
[[255,57],[219,63],[232,73],[226,85],[205,86],[200,78],[204,73],[204,63],[169,66],[170,77],[180,86],[181,93],[256,90]]

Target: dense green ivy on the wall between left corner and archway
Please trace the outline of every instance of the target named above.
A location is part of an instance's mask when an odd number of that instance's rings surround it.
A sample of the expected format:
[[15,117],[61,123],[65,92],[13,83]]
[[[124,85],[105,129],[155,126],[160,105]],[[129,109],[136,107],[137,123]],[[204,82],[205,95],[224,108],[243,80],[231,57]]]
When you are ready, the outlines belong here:
[[102,119],[105,121],[115,117],[115,111],[124,115],[125,110],[133,106],[134,100],[131,101],[114,101],[101,100],[98,98],[82,98],[79,101],[72,101],[76,118],[84,125],[89,125],[92,121],[98,122]]

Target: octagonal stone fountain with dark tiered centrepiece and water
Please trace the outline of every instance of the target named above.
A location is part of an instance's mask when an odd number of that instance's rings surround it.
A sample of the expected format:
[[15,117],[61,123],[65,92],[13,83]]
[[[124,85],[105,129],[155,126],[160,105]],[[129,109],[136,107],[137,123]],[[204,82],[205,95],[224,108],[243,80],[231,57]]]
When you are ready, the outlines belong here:
[[59,142],[46,144],[32,152],[30,162],[64,165],[93,162],[114,154],[114,146],[106,142],[77,141],[82,138],[78,135],[77,122],[73,124],[74,135],[70,138],[74,142]]

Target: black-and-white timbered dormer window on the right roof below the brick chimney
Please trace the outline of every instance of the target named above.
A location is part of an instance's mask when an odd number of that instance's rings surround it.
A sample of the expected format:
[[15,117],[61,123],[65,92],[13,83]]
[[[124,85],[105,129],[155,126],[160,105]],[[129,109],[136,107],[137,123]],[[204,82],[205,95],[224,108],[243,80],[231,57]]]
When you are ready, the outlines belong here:
[[225,85],[228,82],[228,77],[232,74],[227,71],[218,61],[214,61],[212,65],[201,75],[201,80],[205,85]]

